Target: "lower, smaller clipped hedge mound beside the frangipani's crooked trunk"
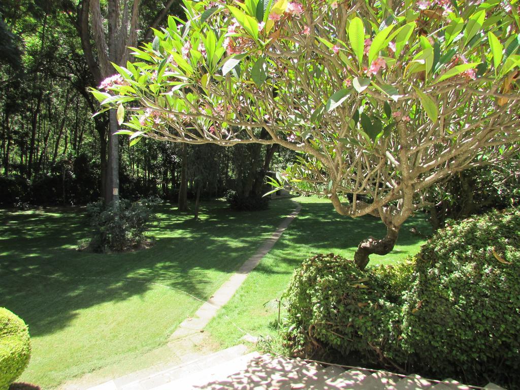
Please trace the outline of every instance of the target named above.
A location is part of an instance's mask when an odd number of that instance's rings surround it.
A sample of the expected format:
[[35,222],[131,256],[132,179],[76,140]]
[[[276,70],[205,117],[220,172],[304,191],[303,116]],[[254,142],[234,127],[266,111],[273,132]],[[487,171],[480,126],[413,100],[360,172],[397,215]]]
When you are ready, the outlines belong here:
[[311,356],[336,350],[361,363],[385,361],[397,336],[399,306],[380,291],[382,279],[333,254],[306,259],[285,293],[291,351]]

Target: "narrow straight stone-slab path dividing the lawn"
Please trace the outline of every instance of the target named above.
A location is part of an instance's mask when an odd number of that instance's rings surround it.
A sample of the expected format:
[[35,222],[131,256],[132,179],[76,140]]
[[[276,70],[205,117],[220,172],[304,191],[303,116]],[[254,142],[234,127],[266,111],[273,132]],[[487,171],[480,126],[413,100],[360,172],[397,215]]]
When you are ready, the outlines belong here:
[[187,318],[180,323],[179,327],[170,336],[170,342],[168,344],[180,341],[183,339],[193,339],[193,344],[197,345],[200,340],[200,333],[206,327],[207,323],[215,317],[218,309],[224,306],[235,294],[240,285],[244,282],[245,278],[248,277],[251,272],[260,263],[262,258],[271,250],[272,246],[278,241],[283,231],[293,222],[294,218],[300,213],[302,206],[300,203],[294,202],[296,209],[285,218],[280,226],[276,229],[272,236],[268,238],[256,253],[246,261],[240,269],[233,274],[223,285],[220,287],[215,294],[210,298],[209,301],[205,302],[199,310],[195,313],[192,318]]

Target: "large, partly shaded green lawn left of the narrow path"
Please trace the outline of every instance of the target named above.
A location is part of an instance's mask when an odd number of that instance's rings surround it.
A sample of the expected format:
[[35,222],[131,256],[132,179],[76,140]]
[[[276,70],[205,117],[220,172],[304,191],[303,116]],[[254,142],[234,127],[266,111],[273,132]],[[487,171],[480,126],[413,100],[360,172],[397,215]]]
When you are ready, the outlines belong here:
[[101,367],[142,368],[200,306],[175,289],[208,298],[292,209],[280,200],[237,213],[216,201],[194,222],[162,206],[157,244],[109,255],[75,250],[85,209],[0,211],[0,306],[28,323],[33,345],[20,380],[49,388]]

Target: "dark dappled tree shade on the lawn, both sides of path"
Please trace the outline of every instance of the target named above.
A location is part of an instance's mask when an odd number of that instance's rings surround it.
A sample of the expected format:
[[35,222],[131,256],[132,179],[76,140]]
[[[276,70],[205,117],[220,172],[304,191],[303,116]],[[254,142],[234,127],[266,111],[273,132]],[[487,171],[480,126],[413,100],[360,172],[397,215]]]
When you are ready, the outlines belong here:
[[[211,202],[201,206],[201,221],[195,222],[164,205],[160,224],[151,229],[157,238],[152,248],[105,255],[75,251],[77,242],[88,237],[84,209],[0,211],[0,306],[17,313],[38,336],[67,327],[77,310],[144,294],[149,283],[205,299],[213,293],[209,271],[235,271],[292,208],[285,200],[272,202],[266,212],[238,213]],[[385,233],[379,219],[342,217],[330,203],[304,203],[297,222],[297,234],[284,245],[313,242],[331,252]],[[418,223],[424,231],[425,219],[411,222]],[[420,240],[409,227],[403,228],[399,244]],[[279,259],[295,265],[301,260]],[[275,272],[264,268],[259,270]]]

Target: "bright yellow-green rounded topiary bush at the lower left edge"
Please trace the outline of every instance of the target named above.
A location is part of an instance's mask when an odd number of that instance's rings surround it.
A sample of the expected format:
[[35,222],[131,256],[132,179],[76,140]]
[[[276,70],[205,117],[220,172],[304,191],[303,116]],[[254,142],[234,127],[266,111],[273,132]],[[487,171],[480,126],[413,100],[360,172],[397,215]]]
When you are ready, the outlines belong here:
[[23,320],[0,307],[0,390],[7,390],[31,358],[29,330]]

